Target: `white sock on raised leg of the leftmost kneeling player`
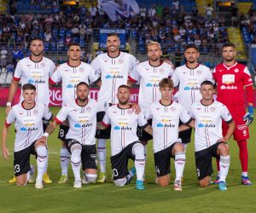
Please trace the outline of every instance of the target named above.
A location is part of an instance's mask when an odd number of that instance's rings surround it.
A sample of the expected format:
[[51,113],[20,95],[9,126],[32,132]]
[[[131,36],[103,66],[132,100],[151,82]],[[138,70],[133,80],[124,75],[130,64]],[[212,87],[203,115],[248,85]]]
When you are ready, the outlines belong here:
[[43,182],[44,171],[45,171],[45,168],[47,167],[47,150],[46,150],[46,147],[39,146],[39,147],[36,148],[36,151],[38,153],[38,158],[37,158],[37,164],[38,164],[37,181],[38,182]]

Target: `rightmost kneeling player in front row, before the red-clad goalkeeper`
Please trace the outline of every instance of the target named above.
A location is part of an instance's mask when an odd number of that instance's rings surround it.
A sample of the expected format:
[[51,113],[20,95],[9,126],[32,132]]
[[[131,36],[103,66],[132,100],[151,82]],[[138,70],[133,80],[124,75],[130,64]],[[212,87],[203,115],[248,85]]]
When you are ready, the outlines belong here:
[[[211,182],[212,157],[214,157],[219,159],[220,165],[218,189],[225,191],[227,190],[225,180],[230,168],[230,151],[226,142],[233,134],[236,125],[227,107],[213,100],[213,94],[212,82],[201,83],[202,99],[191,106],[190,113],[195,122],[189,125],[195,127],[195,165],[199,185],[207,187]],[[222,120],[229,126],[224,136]],[[183,127],[180,126],[180,130],[184,130]]]

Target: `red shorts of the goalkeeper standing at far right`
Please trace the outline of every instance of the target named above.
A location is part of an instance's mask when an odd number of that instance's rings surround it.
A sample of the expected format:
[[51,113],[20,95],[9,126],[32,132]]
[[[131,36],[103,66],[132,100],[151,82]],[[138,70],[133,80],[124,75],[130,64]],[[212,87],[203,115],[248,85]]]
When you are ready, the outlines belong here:
[[[244,115],[246,114],[245,108],[244,107],[228,107],[230,114],[232,115],[233,120],[236,123],[236,130],[233,134],[234,140],[235,141],[244,141],[247,140],[249,136],[249,130],[247,125],[245,124],[245,121],[242,120]],[[223,122],[222,123],[222,130],[223,130],[223,135],[226,134],[229,126],[227,123]]]

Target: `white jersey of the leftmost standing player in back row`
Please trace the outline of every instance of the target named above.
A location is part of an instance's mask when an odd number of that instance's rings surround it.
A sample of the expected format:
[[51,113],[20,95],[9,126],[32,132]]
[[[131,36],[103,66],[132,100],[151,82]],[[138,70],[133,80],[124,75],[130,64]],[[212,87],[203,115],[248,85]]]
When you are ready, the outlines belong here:
[[[20,81],[21,86],[32,83],[37,88],[36,101],[49,105],[49,77],[55,70],[55,63],[43,57],[39,62],[34,62],[30,57],[19,60],[15,68],[14,80]],[[20,101],[23,101],[20,94]]]

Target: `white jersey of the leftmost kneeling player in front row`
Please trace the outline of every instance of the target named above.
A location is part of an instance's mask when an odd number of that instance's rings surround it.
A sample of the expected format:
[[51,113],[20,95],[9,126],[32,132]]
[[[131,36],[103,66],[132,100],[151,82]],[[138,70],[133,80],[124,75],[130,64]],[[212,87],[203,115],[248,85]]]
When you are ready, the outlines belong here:
[[32,109],[25,109],[23,101],[12,107],[5,120],[5,125],[9,126],[15,123],[15,152],[18,152],[32,145],[44,134],[43,120],[50,119],[52,113],[49,112],[48,106],[36,102]]

